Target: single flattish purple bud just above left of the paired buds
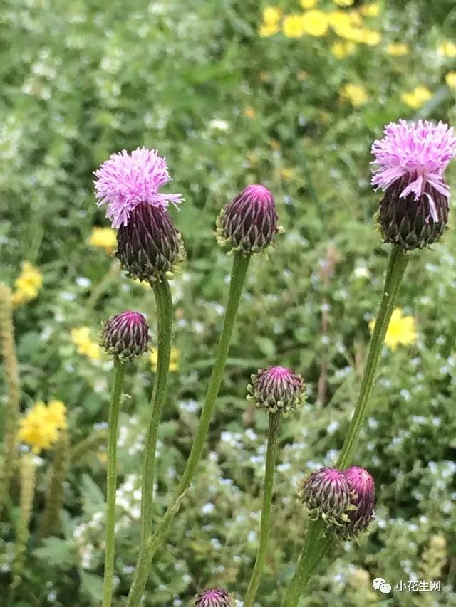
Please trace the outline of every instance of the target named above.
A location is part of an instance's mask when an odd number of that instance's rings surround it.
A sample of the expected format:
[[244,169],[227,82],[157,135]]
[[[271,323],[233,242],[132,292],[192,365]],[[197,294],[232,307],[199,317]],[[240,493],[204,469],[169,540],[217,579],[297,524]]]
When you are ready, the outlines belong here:
[[247,386],[247,390],[248,401],[271,413],[282,411],[287,415],[305,400],[304,380],[284,366],[259,369],[257,375],[252,375],[252,384]]

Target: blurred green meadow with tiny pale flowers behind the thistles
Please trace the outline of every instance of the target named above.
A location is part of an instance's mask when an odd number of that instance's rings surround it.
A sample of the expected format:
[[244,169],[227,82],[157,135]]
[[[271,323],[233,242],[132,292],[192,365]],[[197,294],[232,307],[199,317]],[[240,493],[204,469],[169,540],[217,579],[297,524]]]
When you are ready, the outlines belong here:
[[[280,4],[299,10],[291,0]],[[21,406],[61,398],[73,443],[107,418],[110,364],[77,354],[71,328],[87,324],[95,335],[100,320],[135,307],[148,313],[153,334],[155,318],[152,293],[126,278],[113,280],[95,306],[87,305],[111,263],[86,243],[93,226],[108,225],[95,206],[92,173],[118,149],[156,147],[167,157],[171,191],[185,196],[180,213],[171,211],[188,261],[173,287],[182,354],[160,436],[157,518],[190,448],[222,322],[231,262],[215,243],[215,217],[244,185],[261,182],[274,192],[286,228],[271,259],[254,260],[249,271],[204,463],[155,559],[148,606],[185,605],[210,585],[242,597],[256,549],[266,428],[264,414],[249,409],[245,386],[268,364],[301,372],[308,404],[281,426],[259,605],[277,606],[294,571],[306,527],[294,499],[296,480],[336,460],[388,255],[373,219],[378,195],[369,186],[371,142],[385,122],[415,117],[400,93],[416,85],[434,94],[418,115],[456,117],[455,97],[445,85],[456,59],[436,50],[455,31],[454,2],[386,5],[380,3],[382,14],[371,21],[384,41],[359,46],[343,60],[329,52],[332,34],[260,38],[261,6],[253,0],[4,0],[1,7],[0,279],[13,285],[22,260],[43,272],[38,299],[15,315]],[[398,40],[410,44],[409,56],[385,52]],[[341,102],[338,91],[346,82],[366,87],[365,105]],[[248,107],[253,118],[244,113]],[[212,120],[226,121],[226,130]],[[453,186],[455,174],[450,169]],[[385,349],[356,457],[375,477],[377,521],[359,545],[336,549],[303,605],[456,605],[455,254],[450,229],[443,243],[410,263],[400,306],[415,316],[419,339],[395,352]],[[326,394],[318,401],[322,374]],[[130,368],[120,483],[133,488],[151,381],[146,359]],[[48,459],[44,453],[32,532],[43,508]],[[17,606],[99,604],[104,485],[96,453],[71,468],[63,535],[37,548],[32,533]],[[116,606],[125,604],[139,531],[130,507],[122,512]],[[10,523],[3,524],[2,537],[3,585],[14,542]],[[443,590],[385,598],[373,593],[376,576],[393,586],[441,578]]]

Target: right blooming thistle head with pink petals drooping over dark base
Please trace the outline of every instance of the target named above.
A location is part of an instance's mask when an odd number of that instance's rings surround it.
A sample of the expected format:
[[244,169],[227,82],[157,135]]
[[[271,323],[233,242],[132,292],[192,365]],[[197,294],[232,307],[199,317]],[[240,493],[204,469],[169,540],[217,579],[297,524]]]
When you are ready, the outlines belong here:
[[373,142],[372,184],[385,191],[379,221],[386,242],[407,250],[440,238],[448,221],[450,189],[443,173],[456,155],[453,128],[443,122],[400,120]]

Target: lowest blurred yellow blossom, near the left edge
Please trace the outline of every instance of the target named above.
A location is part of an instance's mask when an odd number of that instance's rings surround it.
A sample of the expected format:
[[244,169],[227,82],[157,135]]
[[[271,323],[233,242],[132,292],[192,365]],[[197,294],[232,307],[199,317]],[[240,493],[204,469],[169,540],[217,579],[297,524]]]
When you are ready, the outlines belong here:
[[51,401],[48,406],[38,401],[19,421],[18,438],[33,453],[40,453],[50,448],[58,439],[58,431],[66,427],[66,408],[61,401]]

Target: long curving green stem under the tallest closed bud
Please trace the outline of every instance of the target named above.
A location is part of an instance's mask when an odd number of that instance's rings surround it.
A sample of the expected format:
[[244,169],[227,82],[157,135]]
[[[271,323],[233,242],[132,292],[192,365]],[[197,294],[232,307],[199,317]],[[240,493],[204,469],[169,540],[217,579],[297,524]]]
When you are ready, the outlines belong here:
[[244,287],[249,260],[250,257],[245,257],[242,253],[235,253],[234,255],[227,309],[225,310],[222,332],[219,337],[219,344],[215,354],[214,367],[212,369],[211,379],[209,380],[204,406],[201,411],[201,416],[199,417],[199,424],[195,440],[193,440],[192,450],[190,451],[174,499],[158,524],[155,533],[147,540],[145,546],[140,550],[140,556],[138,563],[136,564],[135,577],[133,578],[133,584],[130,588],[130,593],[128,594],[128,607],[138,607],[140,604],[155,551],[160,546],[165,533],[170,527],[172,519],[174,519],[177,512],[179,512],[180,504],[185,492],[192,481],[193,475],[195,475],[195,470],[199,458],[201,457],[204,441],[206,440],[207,431],[209,429],[209,423],[214,411],[217,394],[219,393],[220,384],[222,383],[225,361],[227,360],[234,321],[236,320],[237,309]]

